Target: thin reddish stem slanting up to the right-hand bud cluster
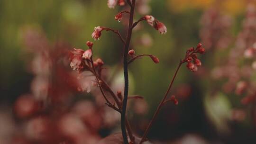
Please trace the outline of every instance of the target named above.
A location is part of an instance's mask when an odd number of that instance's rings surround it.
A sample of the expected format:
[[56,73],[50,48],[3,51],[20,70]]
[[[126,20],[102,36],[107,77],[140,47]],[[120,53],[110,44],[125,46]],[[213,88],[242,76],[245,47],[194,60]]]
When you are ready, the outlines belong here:
[[160,109],[162,108],[162,106],[163,106],[163,104],[164,104],[164,102],[165,102],[165,99],[167,98],[167,95],[168,95],[169,91],[171,90],[171,88],[172,88],[172,86],[173,86],[173,83],[174,83],[174,80],[175,80],[175,78],[176,78],[176,75],[177,75],[177,73],[178,73],[178,71],[179,71],[179,69],[180,69],[180,67],[181,67],[182,64],[183,64],[183,62],[180,61],[179,65],[178,65],[178,67],[177,67],[177,69],[176,69],[176,71],[175,71],[175,73],[174,73],[173,79],[172,79],[172,81],[171,81],[171,83],[170,83],[170,85],[169,85],[167,91],[165,92],[165,96],[164,96],[164,98],[162,99],[162,101],[160,102],[160,104],[158,105],[158,107],[157,107],[157,109],[156,109],[156,111],[155,111],[155,114],[154,114],[153,118],[151,119],[151,121],[149,122],[149,124],[148,124],[148,126],[147,126],[147,128],[146,128],[146,130],[145,130],[145,132],[144,132],[144,134],[143,134],[143,136],[142,136],[142,139],[141,139],[141,141],[140,141],[139,144],[142,144],[142,143],[146,140],[146,135],[148,134],[150,127],[152,126],[153,122],[155,121],[155,118],[156,118],[156,116],[158,115]]

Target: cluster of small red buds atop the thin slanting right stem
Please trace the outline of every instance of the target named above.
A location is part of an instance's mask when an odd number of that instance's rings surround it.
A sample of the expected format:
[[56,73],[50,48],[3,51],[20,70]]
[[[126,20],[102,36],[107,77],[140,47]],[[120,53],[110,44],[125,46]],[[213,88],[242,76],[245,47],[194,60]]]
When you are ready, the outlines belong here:
[[183,63],[187,63],[187,68],[192,72],[197,72],[198,67],[201,66],[201,61],[197,58],[197,54],[203,54],[205,49],[202,44],[199,43],[196,48],[191,47],[187,50]]

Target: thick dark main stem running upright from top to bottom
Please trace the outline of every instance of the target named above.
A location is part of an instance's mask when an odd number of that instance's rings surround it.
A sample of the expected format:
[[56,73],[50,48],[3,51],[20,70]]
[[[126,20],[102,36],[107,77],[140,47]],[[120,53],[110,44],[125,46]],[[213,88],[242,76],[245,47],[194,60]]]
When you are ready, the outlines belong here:
[[124,99],[123,99],[123,107],[121,113],[121,130],[122,136],[124,140],[124,144],[128,144],[127,134],[126,134],[126,107],[127,107],[127,100],[128,100],[128,88],[129,88],[129,81],[128,81],[128,51],[129,45],[132,36],[132,25],[133,25],[133,17],[134,17],[134,9],[135,9],[136,0],[132,0],[131,9],[130,9],[130,17],[129,17],[129,26],[128,26],[128,33],[127,38],[124,46],[124,57],[123,57],[123,67],[124,67]]

